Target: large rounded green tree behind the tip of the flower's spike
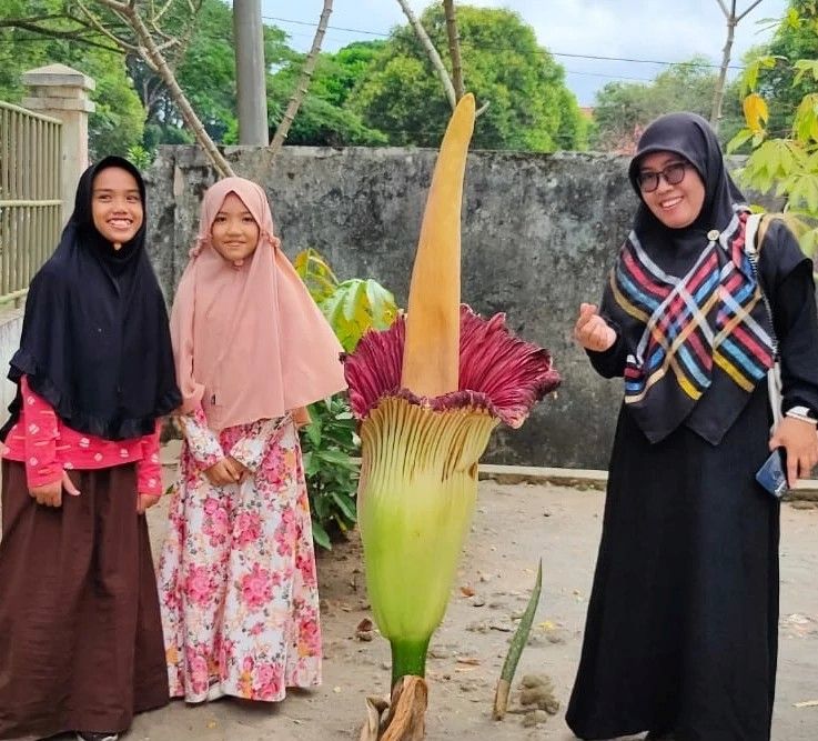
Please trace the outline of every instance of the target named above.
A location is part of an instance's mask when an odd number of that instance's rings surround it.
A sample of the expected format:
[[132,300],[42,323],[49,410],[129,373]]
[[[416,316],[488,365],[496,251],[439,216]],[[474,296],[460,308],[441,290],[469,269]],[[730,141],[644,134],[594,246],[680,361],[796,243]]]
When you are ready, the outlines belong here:
[[[447,50],[443,6],[430,7],[421,22],[434,47]],[[479,102],[491,103],[479,118],[474,147],[553,151],[558,138],[584,127],[576,100],[566,94],[563,68],[517,13],[460,6],[457,23],[466,88]],[[436,147],[451,114],[436,71],[410,26],[383,44],[347,106],[398,146]],[[578,142],[566,143],[573,148]]]

